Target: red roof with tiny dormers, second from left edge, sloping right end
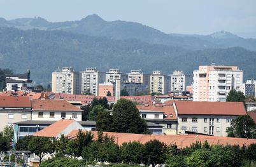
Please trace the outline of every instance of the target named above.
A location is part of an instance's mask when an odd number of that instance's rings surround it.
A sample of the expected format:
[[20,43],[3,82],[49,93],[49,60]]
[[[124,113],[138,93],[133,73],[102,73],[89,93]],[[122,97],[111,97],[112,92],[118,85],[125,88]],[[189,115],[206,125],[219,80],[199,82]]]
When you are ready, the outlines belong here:
[[66,100],[31,100],[32,110],[82,111]]

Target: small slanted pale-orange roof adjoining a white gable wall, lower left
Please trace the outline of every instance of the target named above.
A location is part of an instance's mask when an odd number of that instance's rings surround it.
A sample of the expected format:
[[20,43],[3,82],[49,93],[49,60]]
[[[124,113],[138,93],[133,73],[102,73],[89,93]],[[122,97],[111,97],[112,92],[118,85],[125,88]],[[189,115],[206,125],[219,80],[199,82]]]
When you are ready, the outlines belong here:
[[43,130],[40,130],[33,134],[36,137],[57,137],[69,124],[73,123],[73,119],[60,119],[59,121],[47,126]]

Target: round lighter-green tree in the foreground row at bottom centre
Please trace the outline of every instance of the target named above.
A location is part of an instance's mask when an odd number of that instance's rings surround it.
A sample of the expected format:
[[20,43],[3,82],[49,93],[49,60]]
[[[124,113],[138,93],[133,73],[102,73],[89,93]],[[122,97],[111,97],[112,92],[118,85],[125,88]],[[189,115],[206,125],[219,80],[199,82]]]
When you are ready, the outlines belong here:
[[122,144],[120,157],[124,163],[140,164],[143,158],[143,144],[139,142],[129,142]]

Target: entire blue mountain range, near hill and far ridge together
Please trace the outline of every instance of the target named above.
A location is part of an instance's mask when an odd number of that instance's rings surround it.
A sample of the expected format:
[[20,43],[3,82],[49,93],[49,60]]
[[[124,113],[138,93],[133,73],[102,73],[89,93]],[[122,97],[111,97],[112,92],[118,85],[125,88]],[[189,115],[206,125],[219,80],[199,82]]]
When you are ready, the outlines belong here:
[[1,66],[20,73],[31,69],[39,84],[48,83],[51,72],[63,66],[192,74],[199,65],[212,62],[238,65],[244,79],[251,79],[256,78],[255,51],[256,39],[224,31],[208,36],[165,34],[140,23],[107,22],[97,15],[70,22],[0,18]]

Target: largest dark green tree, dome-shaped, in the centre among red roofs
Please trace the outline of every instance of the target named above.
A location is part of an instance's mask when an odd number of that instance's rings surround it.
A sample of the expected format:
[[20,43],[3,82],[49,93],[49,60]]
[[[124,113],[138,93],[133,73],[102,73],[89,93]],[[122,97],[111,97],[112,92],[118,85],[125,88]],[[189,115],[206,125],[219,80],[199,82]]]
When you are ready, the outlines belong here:
[[113,131],[123,133],[148,133],[146,122],[130,100],[121,98],[113,107]]

